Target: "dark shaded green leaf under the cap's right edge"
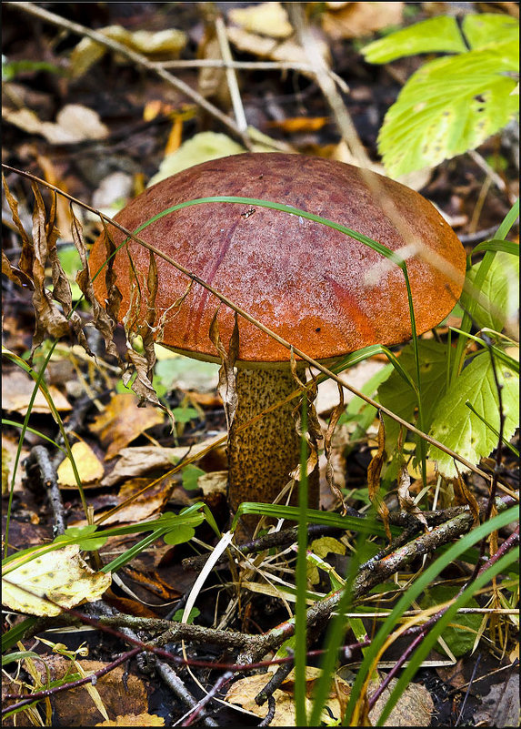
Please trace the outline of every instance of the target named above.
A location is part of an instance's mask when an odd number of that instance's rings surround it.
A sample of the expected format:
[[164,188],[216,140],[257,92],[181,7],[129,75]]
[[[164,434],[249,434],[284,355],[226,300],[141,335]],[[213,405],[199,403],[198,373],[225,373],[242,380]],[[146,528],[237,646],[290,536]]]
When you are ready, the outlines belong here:
[[[422,402],[424,429],[429,428],[437,400],[446,388],[446,357],[447,348],[431,339],[418,341],[420,359],[420,378],[422,387]],[[412,344],[407,344],[400,355],[400,363],[411,378],[416,382],[416,361]],[[416,393],[406,385],[405,380],[396,372],[378,388],[378,400],[389,410],[401,418],[413,422],[417,406]],[[400,425],[384,415],[386,426],[386,452],[388,456],[395,455],[396,443],[400,432]],[[417,439],[416,439],[417,442]]]

